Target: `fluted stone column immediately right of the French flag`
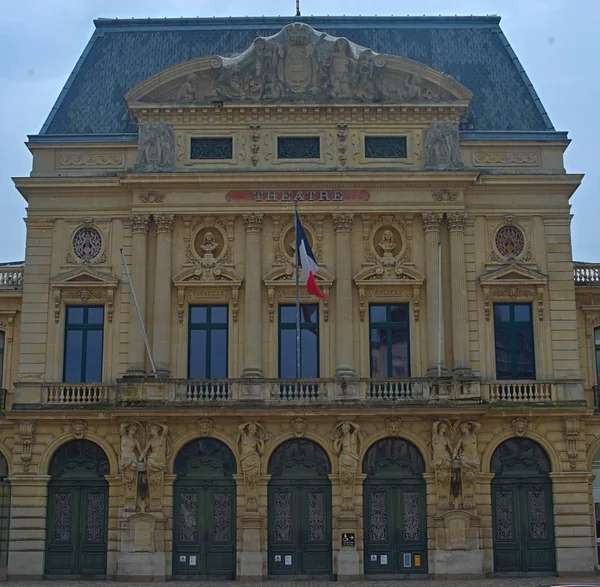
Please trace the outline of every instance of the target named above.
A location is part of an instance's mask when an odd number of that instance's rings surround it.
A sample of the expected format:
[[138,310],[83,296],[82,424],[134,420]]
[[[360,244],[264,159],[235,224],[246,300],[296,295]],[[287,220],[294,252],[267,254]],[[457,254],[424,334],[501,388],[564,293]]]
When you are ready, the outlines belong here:
[[354,377],[350,232],[354,214],[334,214],[336,377]]

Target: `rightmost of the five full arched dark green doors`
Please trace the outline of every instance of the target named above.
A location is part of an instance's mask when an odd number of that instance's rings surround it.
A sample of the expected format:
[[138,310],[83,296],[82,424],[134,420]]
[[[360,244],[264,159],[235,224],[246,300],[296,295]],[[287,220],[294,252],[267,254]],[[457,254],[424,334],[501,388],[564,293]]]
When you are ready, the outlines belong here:
[[494,571],[556,570],[550,458],[529,438],[509,438],[492,455]]

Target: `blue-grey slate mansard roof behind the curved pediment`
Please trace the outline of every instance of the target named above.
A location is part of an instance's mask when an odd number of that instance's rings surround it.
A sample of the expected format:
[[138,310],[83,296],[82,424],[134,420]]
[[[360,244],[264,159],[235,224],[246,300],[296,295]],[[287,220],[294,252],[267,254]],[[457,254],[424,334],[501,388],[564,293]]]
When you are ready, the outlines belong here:
[[294,21],[450,75],[473,92],[464,130],[554,130],[499,17],[245,17],[94,21],[41,134],[137,132],[124,100],[129,90],[178,63],[239,53]]

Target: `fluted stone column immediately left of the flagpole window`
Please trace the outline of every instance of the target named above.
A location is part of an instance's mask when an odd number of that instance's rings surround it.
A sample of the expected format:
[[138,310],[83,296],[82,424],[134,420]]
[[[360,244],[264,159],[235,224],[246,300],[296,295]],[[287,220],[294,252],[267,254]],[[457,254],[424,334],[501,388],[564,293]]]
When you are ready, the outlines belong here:
[[244,370],[242,377],[262,377],[260,238],[262,214],[244,214],[246,276],[244,288]]

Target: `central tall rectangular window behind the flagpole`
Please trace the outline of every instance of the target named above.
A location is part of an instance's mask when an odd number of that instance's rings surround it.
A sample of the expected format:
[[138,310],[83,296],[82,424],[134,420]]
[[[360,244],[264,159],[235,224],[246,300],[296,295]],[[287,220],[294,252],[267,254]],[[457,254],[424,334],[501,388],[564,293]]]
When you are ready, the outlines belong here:
[[[296,378],[296,306],[279,306],[279,377]],[[300,305],[300,379],[319,377],[319,306]]]

